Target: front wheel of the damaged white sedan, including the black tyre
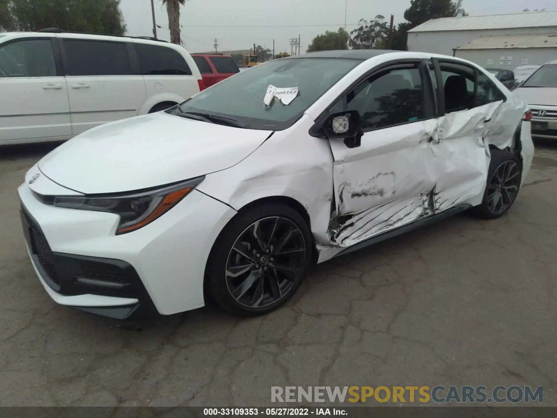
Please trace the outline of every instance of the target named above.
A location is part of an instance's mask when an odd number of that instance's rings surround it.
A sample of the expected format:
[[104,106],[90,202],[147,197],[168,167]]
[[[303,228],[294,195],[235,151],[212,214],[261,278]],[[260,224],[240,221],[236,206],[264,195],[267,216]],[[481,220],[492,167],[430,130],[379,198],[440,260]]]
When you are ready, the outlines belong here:
[[277,309],[310,267],[311,232],[296,210],[266,204],[238,213],[219,236],[208,266],[208,291],[240,315]]

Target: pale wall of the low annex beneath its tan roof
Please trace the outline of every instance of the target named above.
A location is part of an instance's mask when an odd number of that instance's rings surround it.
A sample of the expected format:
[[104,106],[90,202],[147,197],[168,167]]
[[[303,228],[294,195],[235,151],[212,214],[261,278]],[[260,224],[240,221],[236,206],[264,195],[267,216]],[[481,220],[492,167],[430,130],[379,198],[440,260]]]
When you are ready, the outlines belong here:
[[[557,48],[456,50],[456,56],[475,62],[485,68],[514,70],[520,65],[542,65],[548,61],[557,60]],[[502,61],[502,57],[509,59],[510,62]]]

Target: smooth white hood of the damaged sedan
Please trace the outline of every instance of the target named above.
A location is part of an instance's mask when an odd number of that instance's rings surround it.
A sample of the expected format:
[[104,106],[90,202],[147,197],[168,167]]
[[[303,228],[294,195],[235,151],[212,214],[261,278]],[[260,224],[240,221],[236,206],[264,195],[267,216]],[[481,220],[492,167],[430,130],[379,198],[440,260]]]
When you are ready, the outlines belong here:
[[47,154],[38,167],[81,193],[126,192],[232,167],[270,134],[159,112],[88,130]]

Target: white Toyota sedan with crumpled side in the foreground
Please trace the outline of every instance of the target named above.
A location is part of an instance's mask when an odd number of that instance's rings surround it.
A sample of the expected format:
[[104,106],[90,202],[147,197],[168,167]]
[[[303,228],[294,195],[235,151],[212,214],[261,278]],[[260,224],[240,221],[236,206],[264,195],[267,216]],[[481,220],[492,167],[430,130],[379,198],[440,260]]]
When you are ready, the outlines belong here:
[[59,304],[263,314],[311,263],[460,211],[503,215],[534,154],[531,116],[455,57],[273,60],[53,150],[18,189],[23,231]]

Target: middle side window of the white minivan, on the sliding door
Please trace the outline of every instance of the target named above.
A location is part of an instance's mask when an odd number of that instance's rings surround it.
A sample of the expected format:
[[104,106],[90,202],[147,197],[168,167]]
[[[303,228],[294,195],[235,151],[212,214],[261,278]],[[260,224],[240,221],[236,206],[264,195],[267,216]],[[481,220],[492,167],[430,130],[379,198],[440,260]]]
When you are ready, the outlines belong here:
[[131,75],[124,42],[64,39],[67,75]]

